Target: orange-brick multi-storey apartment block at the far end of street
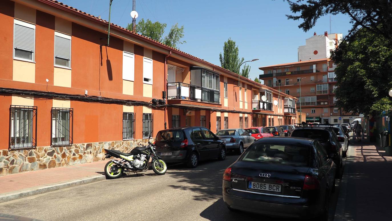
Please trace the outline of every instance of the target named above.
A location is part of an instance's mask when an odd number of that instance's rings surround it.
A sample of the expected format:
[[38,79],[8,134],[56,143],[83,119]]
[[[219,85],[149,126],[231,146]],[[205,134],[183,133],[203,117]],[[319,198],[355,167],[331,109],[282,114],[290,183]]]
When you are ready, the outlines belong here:
[[336,108],[336,65],[329,58],[261,67],[264,84],[298,98],[297,111],[306,113],[301,122],[349,122],[351,113]]

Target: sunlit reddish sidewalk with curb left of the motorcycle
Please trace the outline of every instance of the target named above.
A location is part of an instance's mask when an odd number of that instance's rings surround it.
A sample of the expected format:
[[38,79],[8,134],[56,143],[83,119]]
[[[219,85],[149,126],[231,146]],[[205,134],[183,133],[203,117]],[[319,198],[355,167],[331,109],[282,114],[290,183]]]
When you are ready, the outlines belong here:
[[107,161],[0,176],[0,202],[104,180]]

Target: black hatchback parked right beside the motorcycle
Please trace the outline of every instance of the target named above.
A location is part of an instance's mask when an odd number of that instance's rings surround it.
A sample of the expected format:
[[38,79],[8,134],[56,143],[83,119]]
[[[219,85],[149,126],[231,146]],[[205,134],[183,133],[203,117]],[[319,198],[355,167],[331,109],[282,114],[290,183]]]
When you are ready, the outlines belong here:
[[226,158],[225,143],[203,127],[161,130],[154,144],[156,154],[166,163],[186,163],[191,168],[201,160]]

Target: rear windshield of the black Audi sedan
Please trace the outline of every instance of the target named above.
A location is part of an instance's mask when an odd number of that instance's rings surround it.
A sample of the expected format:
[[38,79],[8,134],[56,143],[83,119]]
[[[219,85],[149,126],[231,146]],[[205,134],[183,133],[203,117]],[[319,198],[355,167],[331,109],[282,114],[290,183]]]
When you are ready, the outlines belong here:
[[257,144],[250,146],[241,161],[262,163],[309,165],[310,145]]

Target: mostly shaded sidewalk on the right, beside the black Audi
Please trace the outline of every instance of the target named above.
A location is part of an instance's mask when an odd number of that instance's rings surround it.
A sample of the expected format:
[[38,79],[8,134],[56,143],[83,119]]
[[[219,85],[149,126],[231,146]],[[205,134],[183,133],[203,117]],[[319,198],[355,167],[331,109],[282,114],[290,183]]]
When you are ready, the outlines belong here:
[[334,221],[390,220],[392,157],[374,144],[351,140]]

